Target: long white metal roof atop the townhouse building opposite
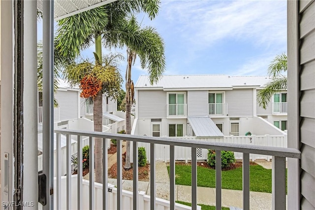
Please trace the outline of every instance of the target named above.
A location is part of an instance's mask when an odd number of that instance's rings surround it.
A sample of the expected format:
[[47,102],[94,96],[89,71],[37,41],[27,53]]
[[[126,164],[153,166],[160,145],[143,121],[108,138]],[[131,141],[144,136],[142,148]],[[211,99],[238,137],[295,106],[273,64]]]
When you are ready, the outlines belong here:
[[228,76],[217,75],[164,75],[156,84],[150,85],[149,76],[141,75],[136,88],[233,88],[264,87],[272,79],[268,76]]

